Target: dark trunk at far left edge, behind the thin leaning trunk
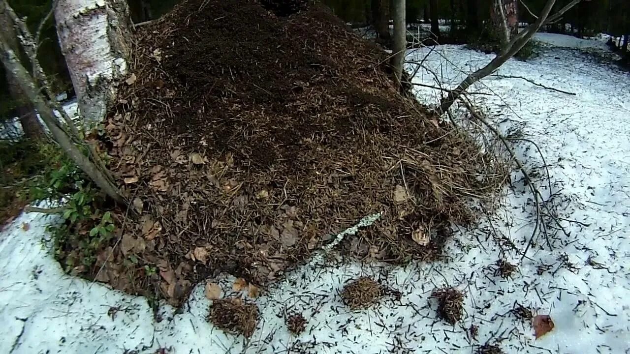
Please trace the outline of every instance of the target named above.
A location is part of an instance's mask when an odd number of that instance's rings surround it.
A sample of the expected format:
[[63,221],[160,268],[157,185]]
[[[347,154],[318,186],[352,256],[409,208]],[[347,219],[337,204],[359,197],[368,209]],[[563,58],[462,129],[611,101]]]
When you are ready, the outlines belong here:
[[[13,25],[13,21],[11,21],[9,14],[6,13],[6,10],[4,9],[4,3],[0,3],[0,28],[3,28],[4,40],[13,52],[19,53],[18,49],[20,46],[18,45]],[[17,103],[15,112],[20,119],[20,124],[22,125],[22,131],[24,132],[25,137],[29,139],[42,139],[42,137],[45,136],[45,133],[39,119],[37,118],[35,108],[33,108],[33,105],[26,99],[25,94],[20,89],[20,85],[16,83],[13,74],[11,74],[8,70],[6,71],[6,82],[8,84],[11,99]]]

